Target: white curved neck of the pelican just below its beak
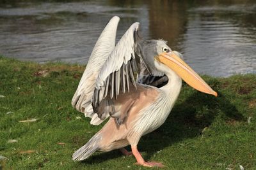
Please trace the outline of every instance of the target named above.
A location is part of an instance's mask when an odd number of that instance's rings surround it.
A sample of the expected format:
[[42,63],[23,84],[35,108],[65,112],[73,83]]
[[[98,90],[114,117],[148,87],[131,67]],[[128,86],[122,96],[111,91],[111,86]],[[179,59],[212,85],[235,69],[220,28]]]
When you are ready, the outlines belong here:
[[165,74],[168,77],[168,83],[161,87],[160,90],[163,90],[167,97],[170,97],[175,101],[180,94],[182,80],[171,70],[166,71]]

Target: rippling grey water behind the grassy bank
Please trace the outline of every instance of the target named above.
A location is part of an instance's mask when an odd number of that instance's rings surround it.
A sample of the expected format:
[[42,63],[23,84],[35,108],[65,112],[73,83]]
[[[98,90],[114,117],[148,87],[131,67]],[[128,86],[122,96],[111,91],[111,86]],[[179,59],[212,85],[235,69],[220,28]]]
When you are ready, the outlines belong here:
[[113,15],[117,39],[140,22],[144,39],[165,39],[198,73],[256,73],[255,1],[0,2],[0,54],[86,64]]

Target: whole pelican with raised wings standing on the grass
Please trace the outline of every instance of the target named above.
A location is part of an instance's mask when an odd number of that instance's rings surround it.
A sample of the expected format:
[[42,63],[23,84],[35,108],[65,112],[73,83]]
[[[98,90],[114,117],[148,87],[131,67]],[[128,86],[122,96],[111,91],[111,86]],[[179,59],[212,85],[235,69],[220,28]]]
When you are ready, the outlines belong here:
[[[115,45],[119,20],[116,16],[111,18],[100,34],[72,98],[72,106],[92,118],[90,124],[99,125],[106,119],[108,122],[72,159],[84,160],[96,151],[120,149],[125,155],[133,154],[141,166],[163,167],[162,163],[146,162],[141,157],[137,149],[141,136],[164,123],[179,96],[182,80],[200,92],[214,96],[217,93],[166,41],[141,39],[138,22]],[[134,78],[135,72],[141,73],[140,83]],[[148,74],[142,74],[145,72]],[[148,76],[153,78],[147,83]],[[162,87],[150,85],[155,76],[166,79],[161,81]],[[131,152],[124,148],[128,145]]]

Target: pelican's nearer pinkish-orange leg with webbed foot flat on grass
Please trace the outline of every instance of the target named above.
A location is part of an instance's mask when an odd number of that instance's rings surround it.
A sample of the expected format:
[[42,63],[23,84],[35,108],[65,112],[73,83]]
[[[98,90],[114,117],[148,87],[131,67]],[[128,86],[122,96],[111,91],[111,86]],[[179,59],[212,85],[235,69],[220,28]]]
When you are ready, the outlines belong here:
[[143,159],[143,157],[141,157],[140,152],[137,149],[137,146],[132,146],[132,153],[134,155],[134,157],[137,160],[136,164],[139,164],[141,166],[147,166],[147,167],[164,167],[163,164],[160,162],[145,162],[145,160]]

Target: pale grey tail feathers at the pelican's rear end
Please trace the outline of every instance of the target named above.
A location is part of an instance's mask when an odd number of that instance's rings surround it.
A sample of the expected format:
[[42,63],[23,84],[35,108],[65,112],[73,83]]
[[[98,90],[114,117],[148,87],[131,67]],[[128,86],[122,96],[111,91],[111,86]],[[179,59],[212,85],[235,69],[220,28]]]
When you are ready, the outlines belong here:
[[75,153],[72,155],[72,160],[79,161],[84,160],[90,157],[92,153],[99,150],[99,141],[101,140],[101,136],[99,134],[95,134],[88,143],[86,143],[84,146],[79,148]]

